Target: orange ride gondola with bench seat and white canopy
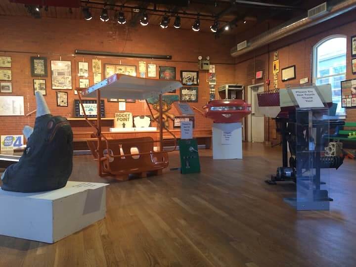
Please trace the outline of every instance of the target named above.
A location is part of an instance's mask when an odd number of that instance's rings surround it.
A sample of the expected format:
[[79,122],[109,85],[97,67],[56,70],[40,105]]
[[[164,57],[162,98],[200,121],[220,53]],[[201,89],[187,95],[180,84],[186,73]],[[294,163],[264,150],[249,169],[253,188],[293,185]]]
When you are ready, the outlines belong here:
[[[160,174],[162,169],[169,165],[168,153],[176,149],[176,136],[164,127],[162,121],[162,94],[182,87],[179,81],[156,80],[138,78],[123,74],[114,74],[109,78],[79,91],[79,101],[84,117],[94,129],[92,136],[87,140],[89,149],[98,162],[100,177],[114,176],[118,180],[127,180],[130,174],[145,176],[147,173]],[[104,98],[147,99],[157,97],[160,99],[159,119],[156,120],[160,130],[160,139],[154,141],[152,137],[138,137],[126,139],[108,139],[101,133],[100,100]],[[82,97],[96,98],[97,121],[91,123],[82,104]],[[147,103],[147,101],[146,101]],[[153,117],[152,110],[147,103]],[[175,147],[170,151],[163,151],[163,128],[174,137]],[[159,151],[154,150],[154,143],[159,143]]]

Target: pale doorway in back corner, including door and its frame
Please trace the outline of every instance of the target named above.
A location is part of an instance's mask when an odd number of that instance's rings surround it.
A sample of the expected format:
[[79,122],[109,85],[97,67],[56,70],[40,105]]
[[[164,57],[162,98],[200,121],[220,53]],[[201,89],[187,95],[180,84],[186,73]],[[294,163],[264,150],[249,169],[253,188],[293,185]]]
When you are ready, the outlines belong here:
[[265,141],[265,117],[258,114],[257,93],[265,90],[264,84],[248,86],[248,103],[251,104],[251,114],[248,115],[247,140],[249,142]]

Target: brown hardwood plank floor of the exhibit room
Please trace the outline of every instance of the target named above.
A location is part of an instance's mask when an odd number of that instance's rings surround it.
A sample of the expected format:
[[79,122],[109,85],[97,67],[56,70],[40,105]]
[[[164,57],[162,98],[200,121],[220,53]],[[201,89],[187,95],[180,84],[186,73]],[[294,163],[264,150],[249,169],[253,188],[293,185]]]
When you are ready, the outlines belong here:
[[[111,183],[106,219],[55,244],[0,236],[0,267],[356,266],[356,161],[331,171],[330,211],[296,212],[282,200],[293,183],[264,182],[279,147],[245,143],[243,160],[199,153],[201,174]],[[75,156],[70,179],[105,181],[89,156]]]

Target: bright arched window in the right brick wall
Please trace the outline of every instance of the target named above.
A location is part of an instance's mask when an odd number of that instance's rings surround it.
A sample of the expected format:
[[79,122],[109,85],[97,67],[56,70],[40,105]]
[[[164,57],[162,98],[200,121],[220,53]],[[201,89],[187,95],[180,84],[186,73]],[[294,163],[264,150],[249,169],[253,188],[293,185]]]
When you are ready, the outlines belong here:
[[313,47],[313,83],[331,84],[338,115],[345,115],[341,107],[341,81],[346,80],[346,42],[346,36],[333,35]]

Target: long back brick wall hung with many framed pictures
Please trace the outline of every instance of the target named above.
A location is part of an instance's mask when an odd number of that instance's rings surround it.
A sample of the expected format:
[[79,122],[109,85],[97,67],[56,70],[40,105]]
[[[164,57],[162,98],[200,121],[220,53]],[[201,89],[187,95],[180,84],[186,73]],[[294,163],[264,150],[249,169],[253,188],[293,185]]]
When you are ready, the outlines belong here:
[[[72,62],[73,88],[79,87],[78,62],[89,62],[89,82],[93,84],[91,59],[92,56],[73,55],[75,49],[149,53],[172,55],[172,60],[145,60],[133,58],[99,57],[102,69],[105,63],[135,65],[138,75],[138,61],[154,63],[158,66],[176,67],[176,78],[180,79],[180,70],[197,70],[198,56],[210,56],[212,64],[216,65],[217,85],[235,81],[234,58],[229,55],[229,49],[234,45],[234,38],[223,36],[215,40],[210,33],[192,32],[189,30],[161,29],[158,25],[146,28],[128,26],[120,27],[117,23],[102,23],[99,20],[65,20],[55,18],[22,18],[13,16],[0,17],[1,36],[0,55],[11,56],[12,59],[12,94],[23,95],[25,114],[36,109],[31,77],[30,56],[47,57],[48,77],[46,80],[47,95],[45,99],[53,115],[74,117],[74,90],[68,92],[68,107],[57,107],[56,90],[51,89],[50,60],[70,60]],[[6,40],[6,42],[4,42]],[[12,51],[12,52],[11,52]],[[82,77],[81,77],[82,78]],[[104,79],[104,73],[102,73]],[[192,106],[201,108],[209,100],[209,85],[207,72],[199,72],[199,102]],[[60,90],[58,90],[60,91]],[[177,90],[177,94],[179,90]],[[1,95],[6,95],[2,93]],[[148,115],[144,103],[127,103],[126,109],[133,115]],[[108,103],[105,100],[106,117],[113,117],[118,111],[118,103]],[[173,108],[172,112],[178,115]],[[34,114],[35,115],[35,114]],[[24,125],[32,126],[35,116],[0,117],[0,134],[21,134]],[[196,114],[195,129],[210,130],[211,121]],[[86,128],[78,131],[88,130]]]

